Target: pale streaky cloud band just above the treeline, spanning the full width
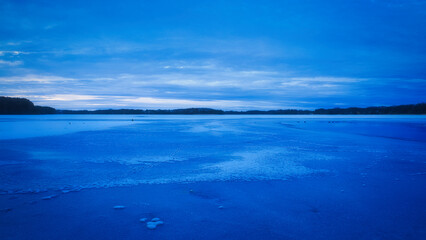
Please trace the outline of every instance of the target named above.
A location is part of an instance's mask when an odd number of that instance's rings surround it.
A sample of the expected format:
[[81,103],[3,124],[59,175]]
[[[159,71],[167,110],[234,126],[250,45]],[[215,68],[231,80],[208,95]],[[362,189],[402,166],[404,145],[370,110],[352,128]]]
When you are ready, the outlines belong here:
[[282,75],[258,70],[205,74],[199,80],[189,73],[82,79],[27,75],[0,78],[0,95],[26,97],[58,109],[312,109],[392,105],[395,99],[397,104],[416,103],[420,102],[419,89],[426,87],[425,79]]

